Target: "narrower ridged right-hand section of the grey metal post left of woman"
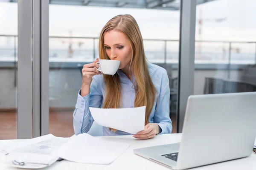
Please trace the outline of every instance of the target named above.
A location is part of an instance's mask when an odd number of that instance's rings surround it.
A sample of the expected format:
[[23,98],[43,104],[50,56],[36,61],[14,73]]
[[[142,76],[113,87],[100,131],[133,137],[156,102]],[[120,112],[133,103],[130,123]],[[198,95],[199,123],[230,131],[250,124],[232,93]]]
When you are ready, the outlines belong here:
[[33,137],[49,134],[49,0],[33,0]]

